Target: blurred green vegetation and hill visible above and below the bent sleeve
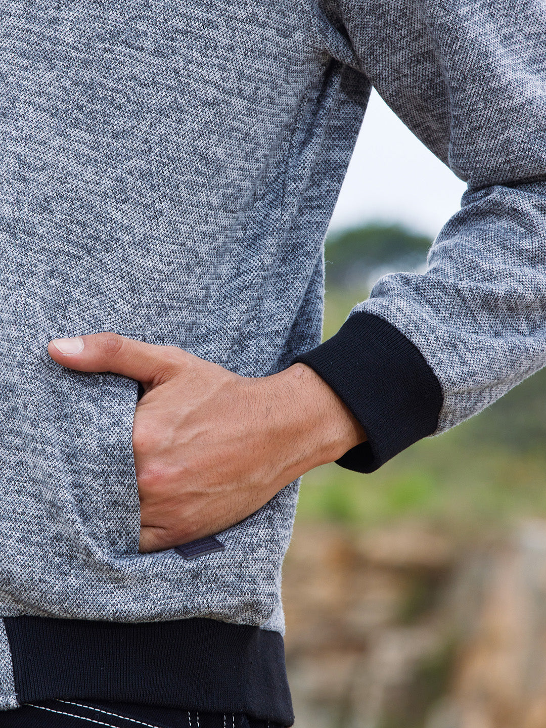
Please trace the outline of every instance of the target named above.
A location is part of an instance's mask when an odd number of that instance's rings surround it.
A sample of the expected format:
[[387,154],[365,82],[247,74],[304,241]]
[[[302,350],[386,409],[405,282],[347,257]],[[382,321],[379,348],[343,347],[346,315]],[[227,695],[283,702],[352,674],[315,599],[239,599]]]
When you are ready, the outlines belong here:
[[[382,230],[382,232],[381,232]],[[381,240],[397,242],[384,247]],[[408,269],[424,263],[423,238],[400,228],[368,227],[327,241],[327,295],[324,336],[335,333],[365,284],[347,280],[339,269],[358,260],[370,269]],[[408,250],[400,254],[401,241]],[[359,242],[360,241],[360,242]],[[368,248],[369,246],[369,254]],[[335,255],[333,255],[333,251]],[[345,283],[343,281],[345,280]],[[435,438],[426,438],[370,475],[336,464],[308,473],[298,517],[375,526],[400,519],[434,523],[454,534],[483,534],[527,516],[546,516],[546,369],[531,376],[486,411]]]

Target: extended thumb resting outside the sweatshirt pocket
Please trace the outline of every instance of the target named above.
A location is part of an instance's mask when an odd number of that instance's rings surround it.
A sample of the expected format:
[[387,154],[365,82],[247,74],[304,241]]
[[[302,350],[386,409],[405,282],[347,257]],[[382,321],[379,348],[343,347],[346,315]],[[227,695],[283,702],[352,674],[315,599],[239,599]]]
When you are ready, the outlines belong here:
[[[111,371],[146,384],[160,384],[175,371],[173,347],[158,347],[104,331],[53,339],[47,352],[58,364],[77,371]],[[181,350],[182,353],[182,350]]]

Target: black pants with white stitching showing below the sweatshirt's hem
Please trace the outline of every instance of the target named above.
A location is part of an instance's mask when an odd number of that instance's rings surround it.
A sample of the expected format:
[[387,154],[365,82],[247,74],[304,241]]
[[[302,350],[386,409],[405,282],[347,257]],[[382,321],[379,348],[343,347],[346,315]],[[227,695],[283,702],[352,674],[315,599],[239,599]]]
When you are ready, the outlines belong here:
[[281,728],[241,713],[203,713],[132,703],[46,700],[0,713],[0,728]]

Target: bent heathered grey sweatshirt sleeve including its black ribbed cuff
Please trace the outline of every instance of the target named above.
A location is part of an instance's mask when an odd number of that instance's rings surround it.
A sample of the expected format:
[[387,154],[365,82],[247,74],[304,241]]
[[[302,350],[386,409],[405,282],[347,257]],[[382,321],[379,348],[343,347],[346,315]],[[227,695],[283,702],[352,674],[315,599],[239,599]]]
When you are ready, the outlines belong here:
[[546,14],[535,0],[341,0],[336,12],[361,71],[468,183],[427,270],[381,278],[298,357],[368,434],[339,464],[371,472],[546,364]]

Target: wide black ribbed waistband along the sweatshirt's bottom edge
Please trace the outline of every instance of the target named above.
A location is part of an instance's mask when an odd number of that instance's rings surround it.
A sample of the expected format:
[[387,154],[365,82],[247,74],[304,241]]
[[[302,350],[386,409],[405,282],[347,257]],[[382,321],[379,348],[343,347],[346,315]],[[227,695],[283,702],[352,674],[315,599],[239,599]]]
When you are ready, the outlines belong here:
[[282,636],[207,619],[4,617],[19,703],[111,700],[293,724]]

